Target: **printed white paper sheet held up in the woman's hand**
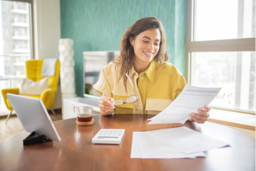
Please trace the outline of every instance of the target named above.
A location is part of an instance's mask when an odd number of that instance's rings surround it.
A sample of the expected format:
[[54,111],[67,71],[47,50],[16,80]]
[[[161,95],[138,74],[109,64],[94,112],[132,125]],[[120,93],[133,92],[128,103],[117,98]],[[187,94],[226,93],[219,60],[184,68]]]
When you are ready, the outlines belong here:
[[221,88],[205,88],[185,86],[178,97],[154,116],[148,124],[159,123],[185,123],[189,119],[189,114],[197,113],[197,109],[204,109],[204,105],[209,105]]

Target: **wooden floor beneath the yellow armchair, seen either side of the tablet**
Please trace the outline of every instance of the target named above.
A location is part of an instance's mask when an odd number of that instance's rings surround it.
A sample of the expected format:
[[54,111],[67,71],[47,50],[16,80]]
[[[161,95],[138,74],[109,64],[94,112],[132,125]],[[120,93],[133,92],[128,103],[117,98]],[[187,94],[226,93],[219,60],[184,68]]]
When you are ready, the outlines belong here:
[[[61,110],[57,109],[54,110],[56,113],[56,117],[51,111],[48,111],[49,115],[51,116],[52,121],[62,120]],[[0,142],[14,133],[23,131],[22,124],[18,117],[15,114],[10,116],[9,121],[5,124],[7,116],[1,116],[0,118]]]

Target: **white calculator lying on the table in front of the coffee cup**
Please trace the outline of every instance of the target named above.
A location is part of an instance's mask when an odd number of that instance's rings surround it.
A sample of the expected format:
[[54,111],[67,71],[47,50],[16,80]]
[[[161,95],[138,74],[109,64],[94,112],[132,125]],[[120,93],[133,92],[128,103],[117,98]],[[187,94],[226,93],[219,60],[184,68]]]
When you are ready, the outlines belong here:
[[93,143],[108,143],[119,145],[122,141],[125,129],[101,129],[93,137]]

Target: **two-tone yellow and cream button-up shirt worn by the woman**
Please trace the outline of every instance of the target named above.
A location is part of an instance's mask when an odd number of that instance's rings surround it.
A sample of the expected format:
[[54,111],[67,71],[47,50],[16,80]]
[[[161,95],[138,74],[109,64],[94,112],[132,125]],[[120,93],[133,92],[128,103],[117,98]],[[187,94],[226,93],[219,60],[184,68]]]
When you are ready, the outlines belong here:
[[121,98],[124,102],[130,95],[138,96],[135,103],[116,106],[115,114],[158,114],[174,101],[186,85],[183,75],[169,62],[164,62],[160,68],[153,60],[141,74],[136,73],[134,67],[131,68],[129,77],[135,85],[136,92],[129,80],[126,92],[123,78],[119,80],[119,74],[120,64],[110,62],[102,69],[100,79],[93,85],[93,88],[102,95],[104,79],[106,95],[114,99]]

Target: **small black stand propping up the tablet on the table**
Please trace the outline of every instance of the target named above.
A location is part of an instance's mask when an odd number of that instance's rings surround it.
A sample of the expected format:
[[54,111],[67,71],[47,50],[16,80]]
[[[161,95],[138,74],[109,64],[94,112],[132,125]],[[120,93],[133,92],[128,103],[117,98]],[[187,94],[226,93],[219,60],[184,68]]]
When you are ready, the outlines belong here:
[[36,132],[32,132],[27,138],[23,139],[23,145],[33,145],[35,143],[53,141],[45,137],[45,135],[38,135]]

